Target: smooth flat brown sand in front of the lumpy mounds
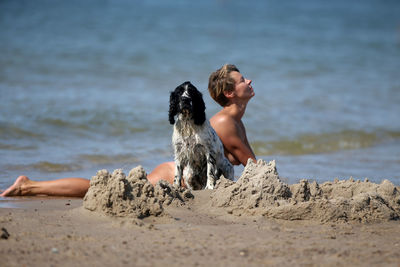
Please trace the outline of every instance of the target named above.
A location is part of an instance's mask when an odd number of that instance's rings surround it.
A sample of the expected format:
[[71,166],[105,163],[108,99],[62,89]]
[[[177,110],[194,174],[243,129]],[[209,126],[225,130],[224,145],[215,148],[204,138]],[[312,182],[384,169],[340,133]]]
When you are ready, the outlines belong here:
[[2,266],[399,266],[398,221],[266,219],[190,208],[142,221],[87,211],[81,199],[12,199],[0,209]]

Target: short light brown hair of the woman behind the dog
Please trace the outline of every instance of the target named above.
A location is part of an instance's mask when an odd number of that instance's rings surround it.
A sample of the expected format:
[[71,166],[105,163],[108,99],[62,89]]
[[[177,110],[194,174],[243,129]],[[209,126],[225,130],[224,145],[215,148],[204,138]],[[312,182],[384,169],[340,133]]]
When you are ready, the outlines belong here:
[[211,73],[208,79],[208,91],[211,97],[223,107],[229,102],[224,92],[231,92],[235,89],[235,80],[230,76],[233,71],[240,72],[235,65],[225,64]]

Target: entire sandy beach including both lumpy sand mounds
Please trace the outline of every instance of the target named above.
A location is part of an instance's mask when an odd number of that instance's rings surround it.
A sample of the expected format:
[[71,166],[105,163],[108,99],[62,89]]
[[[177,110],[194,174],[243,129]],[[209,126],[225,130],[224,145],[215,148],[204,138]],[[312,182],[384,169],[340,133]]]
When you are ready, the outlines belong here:
[[399,192],[390,182],[314,183],[320,191],[300,194],[307,182],[287,186],[262,161],[214,190],[148,186],[143,175],[99,171],[83,200],[4,199],[2,266],[400,265]]

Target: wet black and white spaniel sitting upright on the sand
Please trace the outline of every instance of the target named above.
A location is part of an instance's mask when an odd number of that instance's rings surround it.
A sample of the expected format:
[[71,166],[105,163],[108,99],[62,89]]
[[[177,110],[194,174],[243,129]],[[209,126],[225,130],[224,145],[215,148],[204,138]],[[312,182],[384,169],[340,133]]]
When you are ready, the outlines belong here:
[[233,166],[224,156],[217,133],[206,120],[205,109],[202,94],[190,82],[171,92],[169,122],[174,124],[174,184],[181,186],[183,178],[186,187],[193,190],[213,189],[221,175],[233,180]]

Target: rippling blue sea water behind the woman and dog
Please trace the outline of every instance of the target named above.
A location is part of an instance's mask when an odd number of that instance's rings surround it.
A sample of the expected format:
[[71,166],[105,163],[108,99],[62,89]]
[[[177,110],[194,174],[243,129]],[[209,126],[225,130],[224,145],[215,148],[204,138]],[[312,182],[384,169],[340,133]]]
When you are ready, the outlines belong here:
[[[288,182],[400,184],[400,2],[1,1],[0,188],[172,160],[169,92],[236,64]],[[236,176],[242,168],[236,168]]]

